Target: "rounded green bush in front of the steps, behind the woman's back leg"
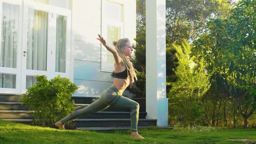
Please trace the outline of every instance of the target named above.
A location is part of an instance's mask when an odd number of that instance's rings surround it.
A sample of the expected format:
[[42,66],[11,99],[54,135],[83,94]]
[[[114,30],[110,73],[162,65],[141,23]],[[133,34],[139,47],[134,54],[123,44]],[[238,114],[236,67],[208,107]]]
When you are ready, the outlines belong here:
[[29,87],[20,102],[34,110],[33,124],[51,127],[56,121],[75,110],[71,96],[79,88],[68,78],[47,80],[45,75],[36,75],[36,84]]

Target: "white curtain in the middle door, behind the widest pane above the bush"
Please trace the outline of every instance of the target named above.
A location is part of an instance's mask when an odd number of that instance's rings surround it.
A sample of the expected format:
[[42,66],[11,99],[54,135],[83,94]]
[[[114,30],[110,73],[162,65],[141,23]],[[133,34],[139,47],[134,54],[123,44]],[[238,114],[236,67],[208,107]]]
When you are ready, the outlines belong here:
[[[28,9],[26,69],[46,71],[48,13]],[[35,78],[26,76],[26,85],[32,86]]]

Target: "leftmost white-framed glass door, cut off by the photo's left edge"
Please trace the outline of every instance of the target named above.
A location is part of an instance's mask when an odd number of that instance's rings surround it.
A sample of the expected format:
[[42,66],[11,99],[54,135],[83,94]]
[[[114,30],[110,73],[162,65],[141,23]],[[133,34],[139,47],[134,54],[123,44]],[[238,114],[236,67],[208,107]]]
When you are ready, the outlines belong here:
[[0,93],[19,94],[22,1],[0,0]]

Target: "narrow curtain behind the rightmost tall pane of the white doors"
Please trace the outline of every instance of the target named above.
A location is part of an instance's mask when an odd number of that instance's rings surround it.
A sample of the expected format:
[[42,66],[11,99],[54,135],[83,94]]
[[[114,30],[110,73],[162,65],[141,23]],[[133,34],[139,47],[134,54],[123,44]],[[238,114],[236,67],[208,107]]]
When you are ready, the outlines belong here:
[[66,16],[57,15],[56,21],[56,72],[66,69]]

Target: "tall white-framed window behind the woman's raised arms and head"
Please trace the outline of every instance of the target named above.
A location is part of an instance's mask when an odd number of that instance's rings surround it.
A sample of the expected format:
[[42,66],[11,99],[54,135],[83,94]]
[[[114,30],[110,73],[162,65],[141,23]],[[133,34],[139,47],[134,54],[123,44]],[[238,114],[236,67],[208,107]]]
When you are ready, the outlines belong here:
[[[123,37],[124,29],[124,5],[118,1],[102,1],[102,36],[106,39],[108,46],[112,42]],[[112,72],[115,60],[113,54],[102,47],[102,71]]]

